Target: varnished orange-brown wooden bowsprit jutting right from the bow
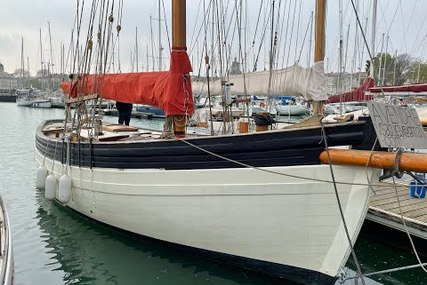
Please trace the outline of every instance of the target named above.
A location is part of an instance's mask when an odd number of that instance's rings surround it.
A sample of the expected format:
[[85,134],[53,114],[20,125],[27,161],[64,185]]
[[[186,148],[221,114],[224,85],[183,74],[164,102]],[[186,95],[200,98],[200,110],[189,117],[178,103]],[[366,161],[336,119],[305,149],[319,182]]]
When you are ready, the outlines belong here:
[[[354,149],[329,149],[330,162],[341,165],[366,166],[394,169],[396,153],[386,151],[368,151]],[[324,150],[320,154],[320,161],[328,163],[328,154]],[[403,152],[399,159],[399,170],[427,172],[427,153]]]

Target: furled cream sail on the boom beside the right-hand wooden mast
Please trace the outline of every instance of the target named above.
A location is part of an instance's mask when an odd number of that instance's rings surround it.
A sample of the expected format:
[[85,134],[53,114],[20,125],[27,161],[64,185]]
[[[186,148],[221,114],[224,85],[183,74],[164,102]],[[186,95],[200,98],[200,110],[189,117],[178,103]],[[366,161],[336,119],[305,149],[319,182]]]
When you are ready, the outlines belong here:
[[[274,70],[271,74],[269,88],[269,71],[230,75],[227,84],[232,84],[231,92],[237,95],[284,96],[303,95],[306,100],[323,101],[327,99],[326,76],[323,61],[316,62],[310,68],[294,65],[289,68]],[[222,81],[210,83],[210,93],[222,94]],[[245,88],[246,84],[246,88]],[[207,84],[193,83],[193,92],[206,94]]]

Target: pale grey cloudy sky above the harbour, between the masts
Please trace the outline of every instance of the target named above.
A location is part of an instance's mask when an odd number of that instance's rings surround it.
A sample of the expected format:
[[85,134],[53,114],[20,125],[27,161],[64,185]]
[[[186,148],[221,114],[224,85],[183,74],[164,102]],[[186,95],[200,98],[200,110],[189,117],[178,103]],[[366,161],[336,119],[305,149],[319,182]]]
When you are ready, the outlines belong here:
[[[83,0],[0,0],[0,63],[5,67],[5,71],[12,73],[21,66],[21,39],[24,46],[25,69],[29,63],[29,70],[35,74],[41,68],[40,59],[40,30],[41,44],[44,61],[51,58],[50,41],[52,42],[52,61],[54,70],[60,70],[61,46],[65,50],[69,49],[71,40],[71,31],[74,27],[76,16],[76,4]],[[90,6],[91,0],[85,0],[86,7]],[[107,0],[104,0],[107,1]],[[204,0],[206,7],[212,0]],[[222,2],[223,7],[231,15],[231,7],[234,7],[234,0],[216,0]],[[245,28],[245,50],[248,54],[250,65],[255,64],[257,55],[258,69],[268,67],[269,44],[261,47],[261,36],[254,35],[255,31],[261,34],[260,27],[263,23],[268,23],[266,12],[271,11],[271,0],[238,0],[247,4],[245,9],[247,19],[243,20]],[[371,0],[353,0],[359,7],[359,17],[362,25],[366,29],[368,42],[371,39]],[[164,47],[164,59],[162,69],[168,67],[167,54],[169,53],[166,25],[168,30],[170,26],[170,1],[161,0],[161,5],[165,11],[162,11],[162,18],[165,12],[167,21],[162,21],[162,45]],[[116,4],[119,0],[116,0]],[[122,31],[120,32],[119,48],[114,49],[114,58],[116,58],[114,71],[117,71],[118,60],[120,57],[121,71],[135,71],[135,34],[138,29],[138,64],[139,69],[146,70],[153,68],[153,59],[156,69],[158,67],[158,0],[123,0]],[[277,14],[278,24],[281,27],[281,33],[278,40],[278,62],[281,65],[292,65],[297,58],[301,58],[301,63],[309,64],[310,54],[310,33],[306,34],[310,22],[311,11],[314,10],[314,0],[275,0],[276,11],[282,9]],[[204,30],[201,10],[203,9],[203,0],[187,1],[187,46],[189,47],[190,58],[193,62],[193,70],[200,72],[200,66],[203,58]],[[163,10],[163,8],[162,8]],[[262,11],[262,13],[259,13]],[[339,34],[342,27],[343,57],[345,69],[347,71],[357,70],[364,66],[367,59],[366,49],[360,31],[356,37],[355,13],[353,11],[351,0],[343,0],[342,14],[343,20],[340,25],[340,4],[339,0],[328,1],[327,11],[327,29],[326,29],[326,68],[329,71],[338,68],[339,58]],[[117,10],[114,13],[116,16]],[[425,0],[378,0],[377,10],[377,33],[376,33],[376,51],[387,51],[394,53],[409,53],[411,56],[425,61],[427,57],[427,1]],[[152,21],[150,21],[150,16]],[[226,16],[227,17],[227,16]],[[257,19],[260,19],[257,21]],[[117,20],[117,18],[116,18]],[[50,24],[51,36],[49,37],[48,22]],[[257,22],[259,23],[258,28]],[[85,23],[85,22],[83,22]],[[210,20],[207,20],[211,25]],[[231,21],[230,21],[231,23]],[[234,26],[234,24],[230,24]],[[82,25],[82,30],[87,27]],[[269,27],[269,24],[268,24]],[[264,42],[269,40],[268,27]],[[291,32],[291,30],[293,32]],[[383,36],[384,34],[384,36]],[[347,37],[348,35],[348,37]],[[231,32],[230,37],[231,38]],[[233,36],[236,42],[237,36]],[[252,45],[252,40],[255,44]],[[384,40],[383,40],[384,39]],[[232,42],[230,40],[230,42]],[[210,44],[209,44],[210,45]],[[231,46],[231,44],[230,44]],[[118,51],[119,50],[119,51]],[[153,51],[153,53],[152,53]],[[152,56],[152,54],[156,54]],[[230,58],[237,57],[239,50],[230,48]],[[218,56],[218,54],[217,54]],[[312,57],[311,57],[312,61]],[[364,67],[363,67],[364,68]],[[253,69],[253,67],[247,67]]]

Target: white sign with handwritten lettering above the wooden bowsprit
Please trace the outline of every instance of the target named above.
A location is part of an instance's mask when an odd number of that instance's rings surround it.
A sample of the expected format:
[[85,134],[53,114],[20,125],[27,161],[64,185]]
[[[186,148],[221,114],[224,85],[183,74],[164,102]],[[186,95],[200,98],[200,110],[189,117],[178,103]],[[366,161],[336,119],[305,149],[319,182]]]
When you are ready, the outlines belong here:
[[368,109],[382,147],[427,148],[427,138],[414,108],[369,102]]

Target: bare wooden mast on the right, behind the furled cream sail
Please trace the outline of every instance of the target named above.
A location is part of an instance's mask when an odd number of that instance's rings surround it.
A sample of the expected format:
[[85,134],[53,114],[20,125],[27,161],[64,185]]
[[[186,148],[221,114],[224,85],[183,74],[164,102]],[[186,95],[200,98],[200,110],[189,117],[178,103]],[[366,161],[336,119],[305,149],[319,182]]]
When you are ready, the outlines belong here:
[[[314,62],[323,61],[325,58],[325,15],[327,0],[316,0],[316,18],[314,34]],[[313,112],[315,115],[323,115],[324,101],[315,101]]]

